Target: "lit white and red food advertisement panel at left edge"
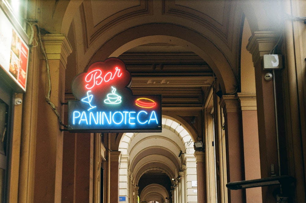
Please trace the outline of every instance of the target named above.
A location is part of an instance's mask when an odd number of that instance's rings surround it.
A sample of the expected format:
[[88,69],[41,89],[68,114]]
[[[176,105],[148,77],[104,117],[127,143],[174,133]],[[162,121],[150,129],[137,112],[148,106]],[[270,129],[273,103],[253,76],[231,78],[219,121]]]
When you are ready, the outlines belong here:
[[0,9],[0,66],[26,90],[29,48]]

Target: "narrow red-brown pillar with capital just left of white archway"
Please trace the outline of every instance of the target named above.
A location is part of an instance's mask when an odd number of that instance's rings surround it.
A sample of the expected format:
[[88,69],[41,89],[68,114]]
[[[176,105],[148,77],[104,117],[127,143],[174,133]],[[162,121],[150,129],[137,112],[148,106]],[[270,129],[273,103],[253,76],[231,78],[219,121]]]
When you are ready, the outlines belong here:
[[111,203],[119,202],[119,162],[121,152],[112,151],[110,152],[110,197],[108,199]]

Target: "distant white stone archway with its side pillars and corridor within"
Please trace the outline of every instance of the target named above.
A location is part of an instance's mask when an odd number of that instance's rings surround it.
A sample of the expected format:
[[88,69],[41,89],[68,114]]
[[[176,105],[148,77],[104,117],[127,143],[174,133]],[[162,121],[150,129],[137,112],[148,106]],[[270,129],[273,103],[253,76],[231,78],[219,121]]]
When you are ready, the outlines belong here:
[[[189,185],[187,182],[196,180],[196,160],[192,136],[174,118],[162,118],[161,133],[123,134],[119,151],[122,152],[119,174],[120,196],[129,197],[134,193],[138,194],[141,200],[144,200],[142,198],[149,200],[147,195],[155,194],[156,191],[145,190],[149,185],[155,184],[166,188],[167,195],[165,197],[171,199],[175,193],[176,196],[173,198],[178,198],[178,195],[184,196],[186,194],[185,191],[188,191],[188,187],[192,188],[187,186]],[[152,174],[163,178],[159,182],[146,179],[148,185],[143,186],[145,184],[144,176]],[[195,196],[193,199],[197,198],[196,194],[189,194],[189,198],[192,196]],[[159,201],[166,202],[165,197]],[[189,202],[187,197],[184,196],[184,199]]]

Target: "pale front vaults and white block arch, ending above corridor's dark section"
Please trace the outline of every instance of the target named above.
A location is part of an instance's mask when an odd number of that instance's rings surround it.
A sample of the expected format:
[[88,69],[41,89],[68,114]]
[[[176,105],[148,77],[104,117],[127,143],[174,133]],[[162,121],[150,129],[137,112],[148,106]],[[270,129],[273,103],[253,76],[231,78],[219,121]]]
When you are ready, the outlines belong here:
[[119,151],[129,155],[130,170],[136,183],[151,170],[162,170],[169,179],[176,178],[181,171],[180,151],[193,153],[190,133],[170,118],[162,118],[161,133],[125,133]]

